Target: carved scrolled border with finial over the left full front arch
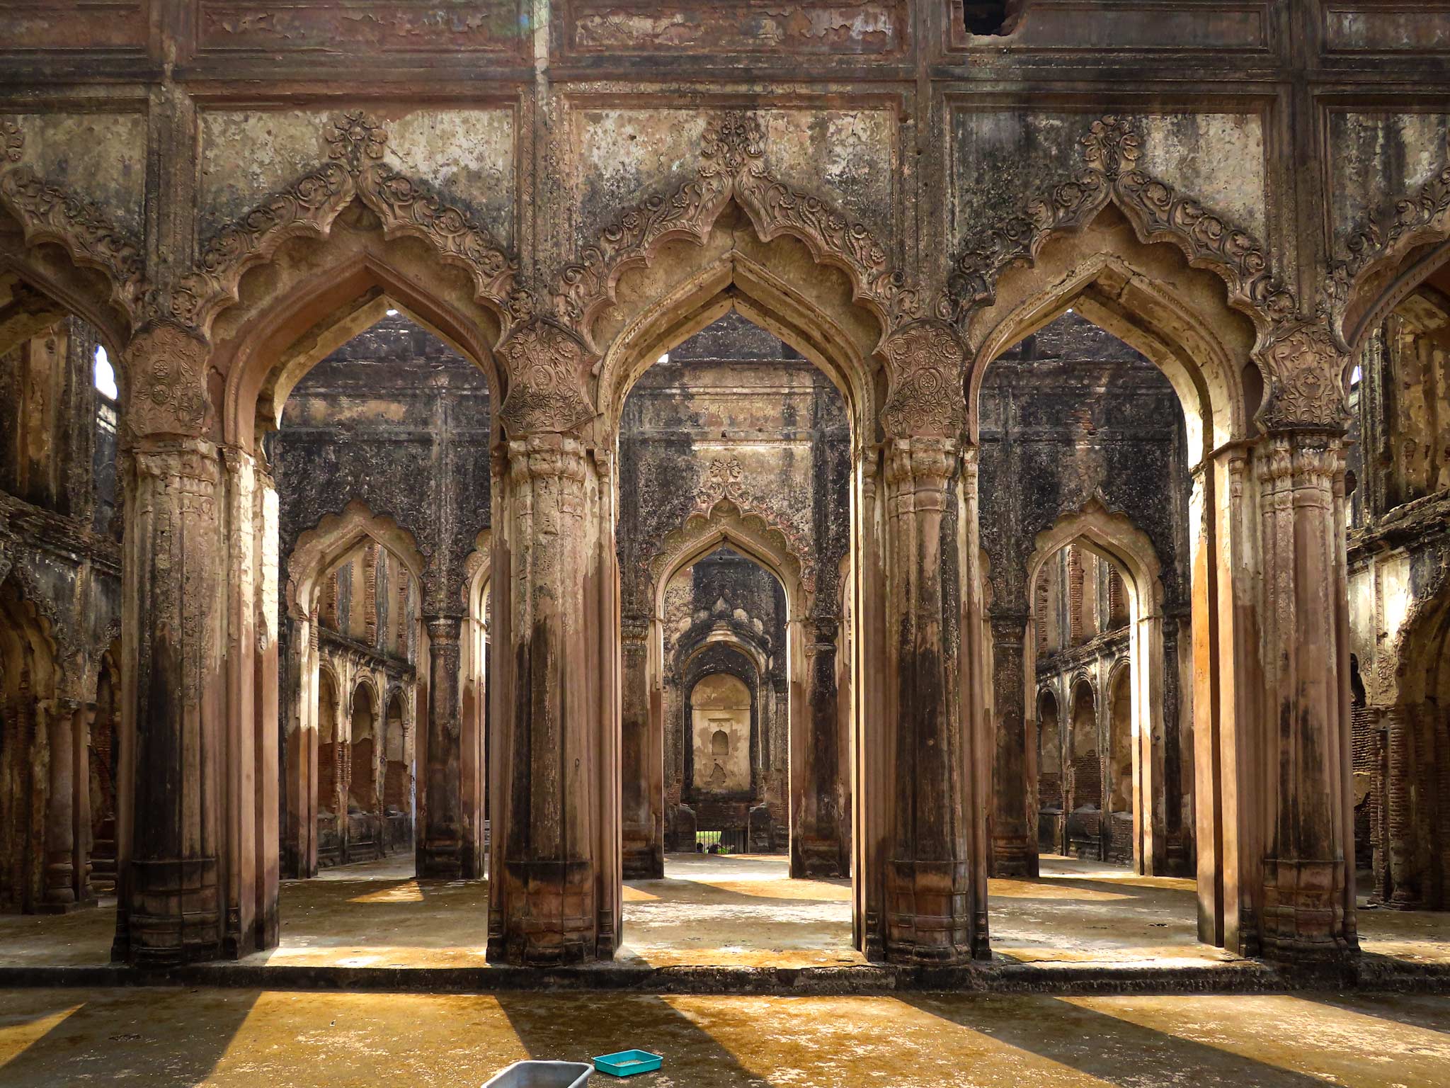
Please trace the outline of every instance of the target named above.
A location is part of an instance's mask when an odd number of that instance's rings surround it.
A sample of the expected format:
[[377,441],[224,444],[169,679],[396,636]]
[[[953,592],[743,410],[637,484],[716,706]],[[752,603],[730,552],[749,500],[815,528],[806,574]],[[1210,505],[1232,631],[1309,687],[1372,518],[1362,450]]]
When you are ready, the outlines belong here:
[[209,328],[238,300],[248,268],[271,258],[289,238],[326,238],[354,199],[381,219],[384,238],[419,238],[445,263],[464,268],[476,297],[499,310],[506,329],[532,313],[528,294],[515,284],[518,261],[465,210],[384,164],[387,131],[376,118],[344,113],[329,122],[325,139],[328,161],[222,226],[190,271],[154,293],[148,316]]

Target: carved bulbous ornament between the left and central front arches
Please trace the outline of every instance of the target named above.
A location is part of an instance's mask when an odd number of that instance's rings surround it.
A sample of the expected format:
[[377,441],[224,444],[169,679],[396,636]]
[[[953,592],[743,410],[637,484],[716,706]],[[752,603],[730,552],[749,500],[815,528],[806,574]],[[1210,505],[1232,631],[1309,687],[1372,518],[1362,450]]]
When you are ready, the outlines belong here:
[[589,353],[560,325],[534,319],[499,348],[509,392],[499,419],[515,438],[563,434],[594,416],[589,397]]

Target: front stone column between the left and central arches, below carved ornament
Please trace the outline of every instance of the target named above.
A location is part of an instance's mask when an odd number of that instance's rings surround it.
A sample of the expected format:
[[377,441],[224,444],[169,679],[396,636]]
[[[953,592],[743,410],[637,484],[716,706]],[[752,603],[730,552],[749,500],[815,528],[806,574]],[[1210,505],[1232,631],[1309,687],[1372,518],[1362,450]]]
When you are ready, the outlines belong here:
[[[618,888],[618,846],[603,849],[606,779],[618,776],[618,747],[600,725],[615,698],[618,657],[600,660],[596,624],[619,622],[615,572],[600,570],[602,502],[592,500],[592,457],[563,434],[534,434],[508,444],[508,495],[502,518],[496,660],[508,662],[506,720],[493,722],[500,789],[493,798],[494,881],[490,886],[489,959],[554,965],[612,956],[618,920],[600,928],[605,885]],[[592,531],[593,529],[593,531]],[[508,592],[502,588],[508,586]],[[609,615],[600,615],[608,601]],[[609,676],[590,677],[594,664]],[[502,669],[500,669],[502,672]],[[500,677],[500,683],[503,683]],[[500,715],[502,718],[503,715]],[[613,804],[618,802],[618,794]],[[618,811],[618,809],[616,809]],[[618,834],[618,830],[615,831]],[[612,914],[612,910],[610,910]]]

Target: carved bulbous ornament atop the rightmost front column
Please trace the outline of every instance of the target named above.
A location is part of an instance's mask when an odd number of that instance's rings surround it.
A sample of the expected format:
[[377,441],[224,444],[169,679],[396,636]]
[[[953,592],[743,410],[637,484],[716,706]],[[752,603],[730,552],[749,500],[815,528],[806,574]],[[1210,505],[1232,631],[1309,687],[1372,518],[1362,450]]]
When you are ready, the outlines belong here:
[[1254,416],[1263,431],[1340,432],[1350,421],[1344,399],[1344,354],[1327,325],[1280,328],[1254,354],[1267,396]]

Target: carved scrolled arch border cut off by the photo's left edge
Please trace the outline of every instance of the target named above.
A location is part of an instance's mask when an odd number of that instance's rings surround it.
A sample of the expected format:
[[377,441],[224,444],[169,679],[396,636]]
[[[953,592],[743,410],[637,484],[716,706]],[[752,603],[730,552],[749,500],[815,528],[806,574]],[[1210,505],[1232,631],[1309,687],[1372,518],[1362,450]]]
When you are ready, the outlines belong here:
[[25,132],[0,119],[0,203],[20,222],[26,245],[55,242],[75,264],[100,271],[112,300],[132,321],[145,294],[142,244],[90,200],[42,178],[25,161]]

